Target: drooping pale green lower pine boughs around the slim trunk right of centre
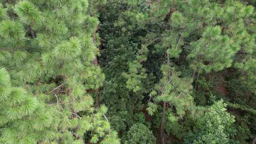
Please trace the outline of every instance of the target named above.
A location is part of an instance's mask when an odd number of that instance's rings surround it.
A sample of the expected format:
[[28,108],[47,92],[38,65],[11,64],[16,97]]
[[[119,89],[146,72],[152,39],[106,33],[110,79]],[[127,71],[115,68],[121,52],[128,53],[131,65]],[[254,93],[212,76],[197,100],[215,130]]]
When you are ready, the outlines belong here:
[[159,95],[155,101],[166,101],[174,106],[178,116],[183,116],[186,110],[193,108],[193,98],[190,95],[191,83],[189,79],[180,78],[180,72],[174,68],[163,65],[164,77],[156,85]]

